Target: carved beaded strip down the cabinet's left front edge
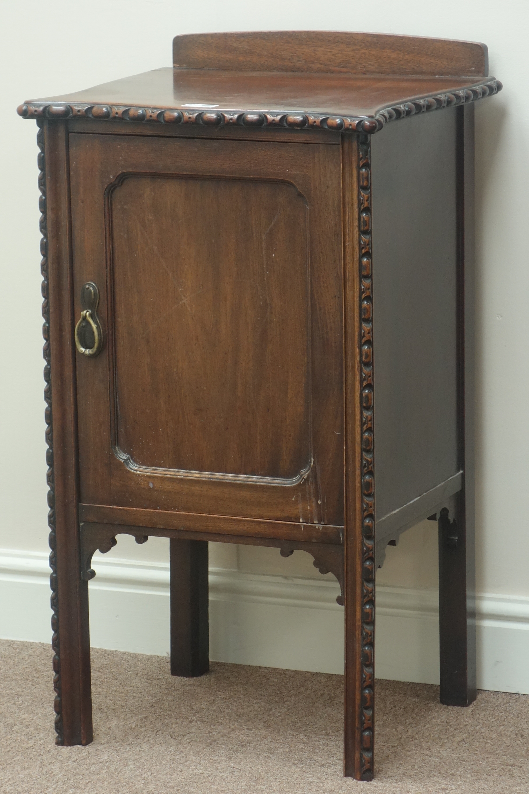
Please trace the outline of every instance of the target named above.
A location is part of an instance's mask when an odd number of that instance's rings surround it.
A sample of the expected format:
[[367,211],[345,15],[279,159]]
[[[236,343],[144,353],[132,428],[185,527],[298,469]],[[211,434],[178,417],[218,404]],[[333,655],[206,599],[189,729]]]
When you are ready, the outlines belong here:
[[53,476],[53,422],[52,422],[52,358],[50,353],[50,310],[48,302],[48,225],[46,222],[46,166],[44,160],[44,128],[43,121],[37,121],[39,125],[36,133],[36,143],[39,147],[38,166],[39,166],[39,209],[40,209],[40,272],[42,273],[42,316],[44,324],[42,335],[44,337],[44,400],[46,409],[44,418],[46,421],[46,463],[48,472],[46,480],[48,482],[48,526],[49,526],[49,546],[50,546],[50,587],[52,588],[52,650],[53,650],[53,689],[55,691],[55,730],[56,744],[62,745],[63,738],[63,713],[61,704],[60,688],[60,649],[59,649],[59,599],[57,595],[57,550],[56,550],[56,521],[55,521],[55,480]]

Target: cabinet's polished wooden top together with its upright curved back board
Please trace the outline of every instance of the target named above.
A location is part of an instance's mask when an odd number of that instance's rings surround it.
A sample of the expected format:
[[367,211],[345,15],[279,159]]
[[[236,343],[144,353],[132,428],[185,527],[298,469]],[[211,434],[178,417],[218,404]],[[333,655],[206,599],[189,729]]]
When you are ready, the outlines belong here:
[[388,121],[496,94],[485,44],[374,33],[177,36],[173,67],[25,102],[24,118],[375,133]]

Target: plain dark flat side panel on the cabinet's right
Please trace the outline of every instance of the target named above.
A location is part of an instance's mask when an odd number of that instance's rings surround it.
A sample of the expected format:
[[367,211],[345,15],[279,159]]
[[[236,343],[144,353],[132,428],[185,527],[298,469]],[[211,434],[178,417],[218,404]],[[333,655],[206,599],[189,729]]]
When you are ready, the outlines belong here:
[[379,521],[459,468],[455,109],[372,147]]

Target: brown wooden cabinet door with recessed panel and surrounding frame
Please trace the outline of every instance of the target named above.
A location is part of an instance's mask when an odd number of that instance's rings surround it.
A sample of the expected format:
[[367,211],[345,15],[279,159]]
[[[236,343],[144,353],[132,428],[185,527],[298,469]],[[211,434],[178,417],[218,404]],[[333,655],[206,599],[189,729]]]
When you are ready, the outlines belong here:
[[82,502],[343,524],[339,146],[73,133],[70,164]]

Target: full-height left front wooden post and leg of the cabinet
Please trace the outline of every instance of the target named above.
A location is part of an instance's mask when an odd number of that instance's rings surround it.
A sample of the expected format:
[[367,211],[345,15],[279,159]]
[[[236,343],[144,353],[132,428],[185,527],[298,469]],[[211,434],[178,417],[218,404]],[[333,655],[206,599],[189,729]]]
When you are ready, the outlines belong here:
[[[68,148],[64,125],[44,127],[46,199],[48,204],[49,381],[52,394],[54,493],[48,498],[55,512],[52,538],[52,588],[56,583],[54,662],[58,667],[56,700],[58,742],[92,741],[88,585],[82,581],[79,549],[79,465],[75,406],[75,345],[72,305],[71,229]],[[44,290],[46,299],[46,291]],[[49,407],[48,407],[49,411]],[[55,570],[54,570],[55,568]],[[55,595],[53,602],[55,602]],[[57,653],[59,649],[59,653]],[[62,723],[62,731],[61,731]]]

